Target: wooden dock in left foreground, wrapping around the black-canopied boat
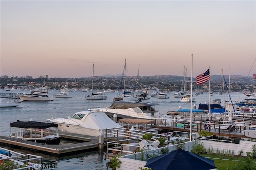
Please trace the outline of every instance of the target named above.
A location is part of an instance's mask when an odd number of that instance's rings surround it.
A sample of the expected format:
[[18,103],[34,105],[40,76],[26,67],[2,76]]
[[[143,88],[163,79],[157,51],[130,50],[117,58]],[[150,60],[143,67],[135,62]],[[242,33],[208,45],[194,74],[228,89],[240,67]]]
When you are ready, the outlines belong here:
[[[85,150],[98,150],[98,137],[89,137],[72,133],[59,133],[63,139],[81,141],[73,144],[46,145],[43,143],[35,143],[17,138],[0,136],[1,146],[18,147],[20,149],[31,150],[32,152],[42,152],[52,156],[64,156],[76,154]],[[106,144],[105,144],[106,145]]]

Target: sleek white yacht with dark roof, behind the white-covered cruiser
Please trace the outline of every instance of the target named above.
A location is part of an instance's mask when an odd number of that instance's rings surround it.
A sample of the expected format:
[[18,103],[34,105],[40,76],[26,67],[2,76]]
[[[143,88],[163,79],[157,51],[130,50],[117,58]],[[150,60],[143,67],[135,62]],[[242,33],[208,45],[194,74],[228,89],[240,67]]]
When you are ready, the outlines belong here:
[[[117,119],[121,118],[137,118],[137,119],[157,119],[166,115],[161,115],[155,106],[159,104],[153,102],[135,102],[120,100],[112,102],[112,105],[107,108],[100,108],[100,111],[105,112],[113,119],[116,114]],[[168,118],[168,116],[166,117]]]

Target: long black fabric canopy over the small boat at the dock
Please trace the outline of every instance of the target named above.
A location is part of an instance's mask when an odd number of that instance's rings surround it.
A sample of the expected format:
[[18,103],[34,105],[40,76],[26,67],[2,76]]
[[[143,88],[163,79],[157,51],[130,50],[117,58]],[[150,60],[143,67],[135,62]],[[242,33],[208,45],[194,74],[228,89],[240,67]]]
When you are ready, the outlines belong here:
[[57,124],[54,123],[46,123],[46,122],[38,122],[38,121],[19,121],[10,123],[11,127],[20,127],[20,128],[38,128],[45,129],[48,127],[58,127]]

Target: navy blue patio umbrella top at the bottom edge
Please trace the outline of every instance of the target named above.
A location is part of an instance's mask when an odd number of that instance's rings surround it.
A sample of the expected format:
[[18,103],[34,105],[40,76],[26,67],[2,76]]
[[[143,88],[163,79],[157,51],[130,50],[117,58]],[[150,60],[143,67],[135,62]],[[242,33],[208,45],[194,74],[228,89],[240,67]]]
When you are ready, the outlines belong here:
[[213,160],[182,149],[151,158],[145,167],[153,170],[210,170],[216,168]]

